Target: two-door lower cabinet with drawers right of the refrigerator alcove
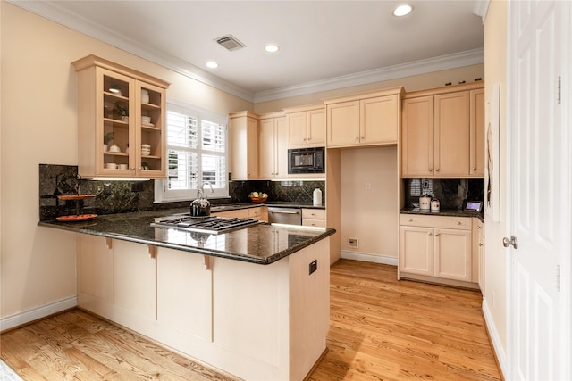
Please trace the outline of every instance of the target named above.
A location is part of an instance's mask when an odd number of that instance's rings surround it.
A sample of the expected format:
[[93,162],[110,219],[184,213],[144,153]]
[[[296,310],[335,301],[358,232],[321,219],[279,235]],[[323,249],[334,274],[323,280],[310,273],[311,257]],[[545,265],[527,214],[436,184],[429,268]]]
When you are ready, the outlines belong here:
[[400,215],[400,276],[408,274],[475,282],[471,218]]

